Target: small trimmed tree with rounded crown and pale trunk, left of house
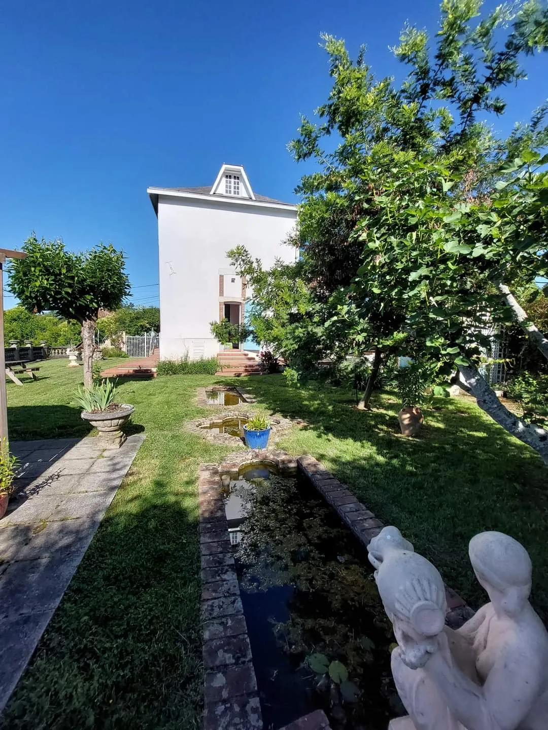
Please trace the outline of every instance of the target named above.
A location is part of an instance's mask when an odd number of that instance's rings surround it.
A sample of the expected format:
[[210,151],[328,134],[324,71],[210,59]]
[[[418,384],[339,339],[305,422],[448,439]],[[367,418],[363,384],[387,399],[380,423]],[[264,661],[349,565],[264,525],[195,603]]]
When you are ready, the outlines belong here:
[[123,253],[103,244],[73,253],[62,241],[39,241],[34,234],[23,251],[26,258],[10,262],[9,291],[29,312],[56,312],[80,323],[84,385],[90,388],[99,310],[115,310],[129,294]]

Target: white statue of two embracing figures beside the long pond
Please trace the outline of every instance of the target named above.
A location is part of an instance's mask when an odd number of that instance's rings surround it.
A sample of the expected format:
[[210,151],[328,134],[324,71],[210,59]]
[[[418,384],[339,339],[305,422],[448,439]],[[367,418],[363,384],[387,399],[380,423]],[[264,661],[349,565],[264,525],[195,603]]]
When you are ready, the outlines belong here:
[[400,531],[385,527],[368,552],[409,713],[389,730],[548,730],[548,633],[529,603],[531,561],[519,542],[501,532],[471,539],[490,602],[457,631],[445,625],[441,575]]

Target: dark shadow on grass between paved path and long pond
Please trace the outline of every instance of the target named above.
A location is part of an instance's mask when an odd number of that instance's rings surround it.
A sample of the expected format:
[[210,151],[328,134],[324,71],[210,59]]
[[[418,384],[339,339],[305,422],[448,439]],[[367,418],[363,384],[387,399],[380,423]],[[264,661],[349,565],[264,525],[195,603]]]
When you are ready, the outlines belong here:
[[169,468],[118,490],[1,728],[201,727],[197,518],[183,506],[195,483],[174,490]]

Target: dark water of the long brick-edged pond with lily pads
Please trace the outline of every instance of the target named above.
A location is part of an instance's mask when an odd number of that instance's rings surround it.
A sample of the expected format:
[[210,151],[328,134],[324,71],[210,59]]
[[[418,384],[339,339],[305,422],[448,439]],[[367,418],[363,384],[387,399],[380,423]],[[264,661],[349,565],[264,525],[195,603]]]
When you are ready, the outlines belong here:
[[302,477],[248,467],[224,491],[265,729],[316,709],[387,728],[405,712],[365,548]]

